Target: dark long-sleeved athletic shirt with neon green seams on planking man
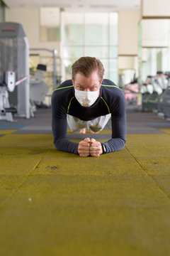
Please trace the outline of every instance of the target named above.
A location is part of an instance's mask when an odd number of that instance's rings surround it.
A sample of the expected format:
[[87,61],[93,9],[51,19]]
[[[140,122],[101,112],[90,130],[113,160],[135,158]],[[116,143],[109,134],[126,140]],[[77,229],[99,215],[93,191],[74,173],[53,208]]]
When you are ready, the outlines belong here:
[[83,107],[74,96],[72,80],[67,80],[52,93],[52,133],[56,149],[78,154],[79,143],[67,139],[67,114],[89,121],[111,113],[112,137],[105,142],[106,153],[125,146],[125,96],[111,80],[104,79],[100,96],[91,107]]

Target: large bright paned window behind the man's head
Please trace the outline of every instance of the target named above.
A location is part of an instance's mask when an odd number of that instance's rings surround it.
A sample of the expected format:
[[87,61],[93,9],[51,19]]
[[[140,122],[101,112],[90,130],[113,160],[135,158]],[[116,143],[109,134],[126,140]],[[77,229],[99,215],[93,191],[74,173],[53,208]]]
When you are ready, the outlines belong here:
[[62,78],[71,78],[71,66],[82,56],[96,57],[105,78],[118,82],[118,14],[62,12]]

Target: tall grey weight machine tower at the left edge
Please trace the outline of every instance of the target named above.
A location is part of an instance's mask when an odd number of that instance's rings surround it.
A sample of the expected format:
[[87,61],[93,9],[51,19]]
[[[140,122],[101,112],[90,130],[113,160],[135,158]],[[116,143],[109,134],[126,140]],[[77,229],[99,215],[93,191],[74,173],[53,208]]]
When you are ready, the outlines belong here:
[[[6,86],[10,80],[15,82],[13,90]],[[5,114],[11,106],[11,113],[15,107],[18,117],[30,118],[29,47],[19,23],[0,23],[0,85],[0,119],[12,121]]]

